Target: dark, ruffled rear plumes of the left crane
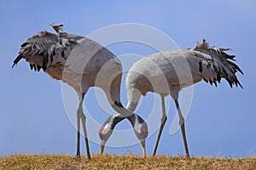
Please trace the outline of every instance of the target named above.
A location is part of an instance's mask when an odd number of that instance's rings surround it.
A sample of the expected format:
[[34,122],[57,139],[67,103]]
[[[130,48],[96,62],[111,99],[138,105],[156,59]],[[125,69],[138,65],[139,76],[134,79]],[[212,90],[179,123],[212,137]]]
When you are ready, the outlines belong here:
[[35,71],[43,68],[45,71],[50,65],[66,63],[67,56],[73,48],[84,40],[84,37],[61,32],[60,35],[41,31],[22,43],[20,53],[14,60],[12,67],[25,58]]

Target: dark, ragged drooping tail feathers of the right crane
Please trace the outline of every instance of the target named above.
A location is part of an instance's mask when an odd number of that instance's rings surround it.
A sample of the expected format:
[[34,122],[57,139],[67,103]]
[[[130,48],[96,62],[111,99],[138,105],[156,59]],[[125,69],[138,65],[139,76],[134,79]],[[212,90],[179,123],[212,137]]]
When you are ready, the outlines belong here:
[[211,85],[213,83],[217,86],[216,81],[220,82],[221,78],[224,78],[229,82],[231,88],[233,85],[236,85],[236,87],[239,85],[243,88],[236,77],[236,72],[239,71],[242,75],[243,72],[238,65],[232,62],[236,61],[236,55],[224,53],[230,50],[230,48],[210,48],[208,42],[203,39],[203,42],[197,43],[193,50],[201,52],[201,54],[196,55],[201,58],[199,71],[203,74],[206,82],[209,82]]

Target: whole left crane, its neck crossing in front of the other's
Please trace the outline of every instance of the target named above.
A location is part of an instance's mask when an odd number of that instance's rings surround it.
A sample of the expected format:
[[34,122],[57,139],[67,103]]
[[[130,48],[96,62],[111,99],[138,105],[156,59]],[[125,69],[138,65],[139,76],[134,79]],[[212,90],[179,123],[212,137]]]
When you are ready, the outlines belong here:
[[[119,117],[128,116],[133,127],[137,119],[140,119],[140,125],[146,130],[135,133],[138,135],[137,138],[141,139],[145,155],[144,145],[148,136],[147,124],[140,116],[126,110],[120,102],[122,65],[119,59],[99,43],[86,37],[60,32],[58,27],[55,30],[58,34],[41,31],[22,43],[20,53],[12,67],[17,65],[20,59],[26,59],[31,69],[40,71],[42,68],[50,77],[67,82],[77,92],[79,107],[77,110],[76,158],[80,158],[80,123],[82,123],[87,156],[90,159],[85,126],[86,117],[83,112],[84,95],[90,87],[102,88],[107,95],[109,104],[120,114]],[[134,127],[134,130],[136,131],[137,128]]]

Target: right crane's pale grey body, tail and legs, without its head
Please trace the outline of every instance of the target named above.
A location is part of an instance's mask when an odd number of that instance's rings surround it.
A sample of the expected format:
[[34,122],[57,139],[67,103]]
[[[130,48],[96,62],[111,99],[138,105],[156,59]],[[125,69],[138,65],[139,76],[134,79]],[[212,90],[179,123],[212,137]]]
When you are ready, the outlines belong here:
[[[189,147],[185,134],[184,118],[178,104],[178,92],[203,79],[211,85],[217,86],[221,78],[233,85],[241,86],[236,72],[243,72],[233,62],[235,55],[226,54],[229,48],[210,48],[204,39],[197,43],[193,49],[166,51],[150,54],[138,60],[131,66],[126,77],[126,90],[128,94],[127,109],[135,111],[141,95],[148,92],[160,94],[162,103],[161,125],[153,156],[159,144],[160,135],[166,123],[165,97],[171,95],[177,107],[179,124],[183,134],[183,143],[186,156],[189,157]],[[109,137],[108,137],[109,138]]]

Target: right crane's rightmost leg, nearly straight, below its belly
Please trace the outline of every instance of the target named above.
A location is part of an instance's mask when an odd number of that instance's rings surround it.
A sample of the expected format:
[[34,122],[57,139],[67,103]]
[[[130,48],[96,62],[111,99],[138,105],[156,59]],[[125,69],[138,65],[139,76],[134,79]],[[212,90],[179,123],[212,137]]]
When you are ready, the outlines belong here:
[[186,132],[185,132],[185,122],[184,122],[183,114],[180,110],[177,99],[175,99],[175,105],[177,107],[177,113],[179,116],[179,125],[181,126],[181,130],[183,133],[183,142],[184,142],[184,146],[185,146],[186,156],[189,158],[189,147],[188,147]]

